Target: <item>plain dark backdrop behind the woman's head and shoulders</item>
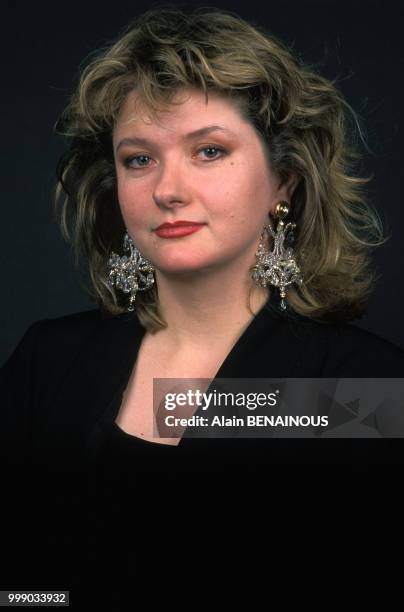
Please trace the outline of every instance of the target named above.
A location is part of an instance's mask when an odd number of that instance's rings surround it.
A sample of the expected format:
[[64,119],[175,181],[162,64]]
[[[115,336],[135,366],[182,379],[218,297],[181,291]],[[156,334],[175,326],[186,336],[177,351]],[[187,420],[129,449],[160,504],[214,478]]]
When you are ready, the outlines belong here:
[[[53,126],[79,67],[150,2],[5,2],[2,107],[0,362],[34,321],[94,308],[76,278],[53,216],[55,167],[64,150]],[[375,253],[381,274],[356,324],[404,347],[401,323],[403,8],[390,1],[182,2],[262,23],[337,83],[361,115],[369,151],[362,174],[392,232]]]

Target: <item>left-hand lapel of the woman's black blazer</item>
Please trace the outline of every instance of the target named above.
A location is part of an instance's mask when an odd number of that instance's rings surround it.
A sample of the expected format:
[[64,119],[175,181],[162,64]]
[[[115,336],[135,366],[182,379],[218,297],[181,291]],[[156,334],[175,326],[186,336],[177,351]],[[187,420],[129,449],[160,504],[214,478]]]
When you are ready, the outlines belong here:
[[[123,391],[145,329],[133,313],[100,323],[72,364],[48,407],[41,406],[32,436],[32,460],[58,470],[80,470],[84,455],[102,442],[100,426]],[[51,454],[50,454],[51,453]]]

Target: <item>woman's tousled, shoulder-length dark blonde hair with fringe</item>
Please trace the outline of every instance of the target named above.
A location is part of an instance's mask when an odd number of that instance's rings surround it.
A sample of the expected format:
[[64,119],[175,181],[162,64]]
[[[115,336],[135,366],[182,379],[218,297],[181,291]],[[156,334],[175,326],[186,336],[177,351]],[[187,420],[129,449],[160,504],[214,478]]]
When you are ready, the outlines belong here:
[[[357,175],[358,115],[273,34],[214,7],[165,5],[138,16],[90,55],[56,123],[70,146],[57,167],[55,210],[78,270],[84,259],[88,293],[111,315],[127,310],[128,296],[109,286],[107,270],[126,229],[112,148],[123,102],[136,90],[155,119],[184,88],[206,100],[209,91],[226,96],[265,144],[271,170],[299,178],[290,208],[304,282],[288,288],[291,309],[320,321],[360,316],[375,282],[370,249],[383,233],[364,194],[372,177]],[[147,330],[166,326],[156,285],[137,293],[135,307]]]

